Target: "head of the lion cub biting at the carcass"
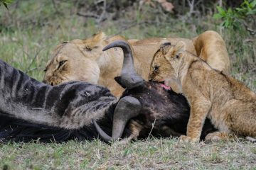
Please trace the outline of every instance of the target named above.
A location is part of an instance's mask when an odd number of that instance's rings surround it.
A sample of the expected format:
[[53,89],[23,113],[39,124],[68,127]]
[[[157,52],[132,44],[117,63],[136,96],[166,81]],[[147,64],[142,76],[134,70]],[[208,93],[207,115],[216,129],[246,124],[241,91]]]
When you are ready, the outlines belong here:
[[149,79],[159,82],[176,79],[183,51],[185,51],[185,43],[182,41],[177,42],[176,45],[168,43],[161,45],[151,62]]

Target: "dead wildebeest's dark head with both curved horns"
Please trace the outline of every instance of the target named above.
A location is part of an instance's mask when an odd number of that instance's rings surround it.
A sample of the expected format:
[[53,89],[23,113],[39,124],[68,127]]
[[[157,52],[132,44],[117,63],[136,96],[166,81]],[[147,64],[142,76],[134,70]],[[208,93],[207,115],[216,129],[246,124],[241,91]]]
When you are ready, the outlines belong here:
[[[128,121],[131,131],[130,139],[136,139],[138,136],[145,137],[149,135],[149,132],[152,135],[176,137],[186,134],[190,115],[186,98],[170,89],[163,88],[162,84],[144,81],[134,71],[132,49],[127,42],[116,40],[103,50],[112,47],[121,47],[124,52],[121,76],[116,77],[115,80],[126,90],[119,99],[117,104],[119,107],[114,112],[112,137],[107,135],[96,121],[92,120],[102,139],[107,142],[117,140],[122,136]],[[132,108],[138,108],[139,111],[134,113]],[[201,139],[214,131],[215,128],[210,120],[206,120]]]

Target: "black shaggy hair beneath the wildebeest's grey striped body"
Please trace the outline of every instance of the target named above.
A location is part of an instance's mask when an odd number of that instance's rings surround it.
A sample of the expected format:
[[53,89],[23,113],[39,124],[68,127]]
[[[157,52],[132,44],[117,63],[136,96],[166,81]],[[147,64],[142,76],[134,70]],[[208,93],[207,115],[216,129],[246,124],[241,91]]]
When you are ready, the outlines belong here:
[[[112,109],[98,121],[108,134],[111,134],[112,131]],[[125,133],[129,134],[127,130]],[[65,142],[68,140],[93,140],[95,138],[98,138],[98,134],[92,123],[82,128],[69,130],[0,115],[0,142],[30,142],[31,140]]]

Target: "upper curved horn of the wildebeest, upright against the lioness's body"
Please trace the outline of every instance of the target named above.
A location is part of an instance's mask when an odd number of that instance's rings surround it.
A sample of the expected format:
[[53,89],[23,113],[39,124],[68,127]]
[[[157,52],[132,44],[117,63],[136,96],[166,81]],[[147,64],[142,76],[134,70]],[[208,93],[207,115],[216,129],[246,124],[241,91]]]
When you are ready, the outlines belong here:
[[124,86],[128,89],[131,89],[134,86],[141,84],[144,81],[144,79],[142,79],[142,77],[140,77],[135,72],[132,49],[129,46],[128,42],[125,42],[124,40],[115,40],[114,42],[110,43],[110,45],[107,45],[106,47],[104,47],[103,51],[108,50],[112,47],[121,47],[124,52],[122,72],[121,72],[121,77],[119,78],[118,83],[121,86]]

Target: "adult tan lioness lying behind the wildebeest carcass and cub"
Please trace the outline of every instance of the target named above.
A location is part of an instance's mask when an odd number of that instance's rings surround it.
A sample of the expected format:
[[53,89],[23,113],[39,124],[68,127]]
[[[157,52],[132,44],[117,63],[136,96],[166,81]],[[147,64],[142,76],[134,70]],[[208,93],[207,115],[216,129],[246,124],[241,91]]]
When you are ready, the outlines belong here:
[[[122,39],[124,38],[119,35],[107,38],[104,33],[98,33],[86,40],[63,42],[53,51],[53,57],[46,65],[43,81],[52,85],[75,80],[89,81],[106,86],[114,96],[120,96],[124,89],[114,81],[114,77],[119,76],[121,72],[122,50],[114,48],[102,52],[102,49],[110,42]],[[172,44],[183,40],[189,52],[200,56],[213,68],[228,73],[230,60],[225,43],[218,33],[208,30],[193,40],[184,38],[128,40],[134,50],[134,67],[143,79],[148,80],[151,61],[162,40],[168,40]]]

